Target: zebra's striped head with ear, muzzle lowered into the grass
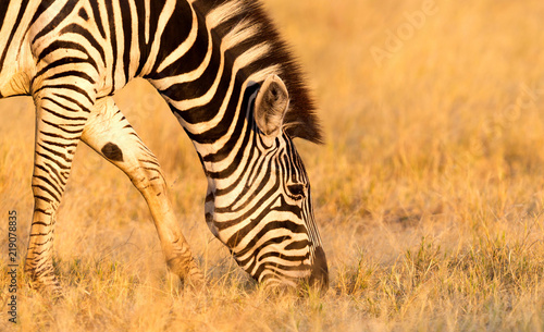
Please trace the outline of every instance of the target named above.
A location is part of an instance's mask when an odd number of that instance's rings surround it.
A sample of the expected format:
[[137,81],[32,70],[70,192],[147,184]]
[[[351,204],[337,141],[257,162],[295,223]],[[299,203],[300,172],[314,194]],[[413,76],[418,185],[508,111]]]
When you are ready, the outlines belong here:
[[[310,183],[292,138],[285,133],[287,88],[271,75],[248,84],[242,113],[236,171],[209,179],[206,219],[237,263],[258,282],[327,287],[325,254],[313,218]],[[245,108],[245,109],[244,109]]]

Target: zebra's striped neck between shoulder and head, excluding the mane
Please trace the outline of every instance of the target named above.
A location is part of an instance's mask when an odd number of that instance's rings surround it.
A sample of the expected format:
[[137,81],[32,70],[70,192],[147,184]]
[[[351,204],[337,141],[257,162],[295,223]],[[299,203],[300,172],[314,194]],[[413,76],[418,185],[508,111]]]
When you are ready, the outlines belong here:
[[173,51],[145,74],[206,162],[222,161],[251,124],[248,98],[256,88],[250,89],[249,82],[262,82],[280,67],[265,63],[271,46],[256,38],[259,30],[250,21],[233,24],[239,7],[243,2],[195,1],[174,11],[180,17],[171,21],[183,26],[169,36],[175,38]]

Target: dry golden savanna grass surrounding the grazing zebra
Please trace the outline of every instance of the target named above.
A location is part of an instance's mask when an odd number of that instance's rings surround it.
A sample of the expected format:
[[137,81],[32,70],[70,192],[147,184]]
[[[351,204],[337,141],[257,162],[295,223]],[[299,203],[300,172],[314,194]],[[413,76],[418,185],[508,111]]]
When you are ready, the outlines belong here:
[[265,2],[327,136],[297,145],[330,291],[270,297],[248,280],[203,222],[190,143],[135,82],[116,100],[165,170],[208,291],[171,291],[144,199],[81,146],[55,231],[64,299],[20,273],[20,323],[8,323],[8,211],[24,254],[34,111],[4,100],[0,330],[543,331],[544,2]]

